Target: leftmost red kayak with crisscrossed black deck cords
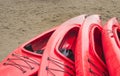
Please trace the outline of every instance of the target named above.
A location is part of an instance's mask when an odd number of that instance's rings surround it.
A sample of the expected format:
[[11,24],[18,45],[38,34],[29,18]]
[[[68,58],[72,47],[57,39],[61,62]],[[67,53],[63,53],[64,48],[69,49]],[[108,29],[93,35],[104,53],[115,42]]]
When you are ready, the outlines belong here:
[[0,76],[38,76],[43,51],[55,30],[42,33],[10,53],[0,63]]

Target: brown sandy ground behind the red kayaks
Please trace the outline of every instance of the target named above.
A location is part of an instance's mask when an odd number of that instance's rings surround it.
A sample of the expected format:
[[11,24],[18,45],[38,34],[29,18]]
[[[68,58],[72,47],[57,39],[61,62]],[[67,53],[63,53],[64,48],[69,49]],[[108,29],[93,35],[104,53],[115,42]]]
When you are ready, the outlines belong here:
[[0,0],[0,61],[34,36],[81,14],[120,18],[120,0]]

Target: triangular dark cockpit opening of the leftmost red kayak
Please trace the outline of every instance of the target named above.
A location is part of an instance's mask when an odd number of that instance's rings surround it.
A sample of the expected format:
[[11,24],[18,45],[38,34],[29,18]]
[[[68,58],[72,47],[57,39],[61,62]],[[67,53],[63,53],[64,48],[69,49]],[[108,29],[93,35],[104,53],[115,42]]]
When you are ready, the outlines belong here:
[[40,36],[39,38],[25,45],[24,48],[30,52],[35,52],[37,54],[43,54],[46,44],[53,32],[54,31],[51,31],[43,36]]

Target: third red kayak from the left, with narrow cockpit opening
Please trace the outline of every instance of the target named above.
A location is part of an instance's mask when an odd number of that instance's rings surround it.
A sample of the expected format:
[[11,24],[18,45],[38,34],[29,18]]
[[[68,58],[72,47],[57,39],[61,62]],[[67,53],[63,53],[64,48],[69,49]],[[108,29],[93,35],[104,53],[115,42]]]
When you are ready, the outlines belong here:
[[88,16],[81,26],[75,49],[76,76],[108,76],[98,15]]

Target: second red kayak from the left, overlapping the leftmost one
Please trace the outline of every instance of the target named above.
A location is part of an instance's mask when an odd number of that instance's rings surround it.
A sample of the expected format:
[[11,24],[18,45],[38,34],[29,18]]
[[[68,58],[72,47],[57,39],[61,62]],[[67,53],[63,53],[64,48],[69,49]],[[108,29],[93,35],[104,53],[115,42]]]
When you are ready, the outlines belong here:
[[63,23],[52,34],[44,51],[38,76],[75,76],[76,38],[85,15]]

